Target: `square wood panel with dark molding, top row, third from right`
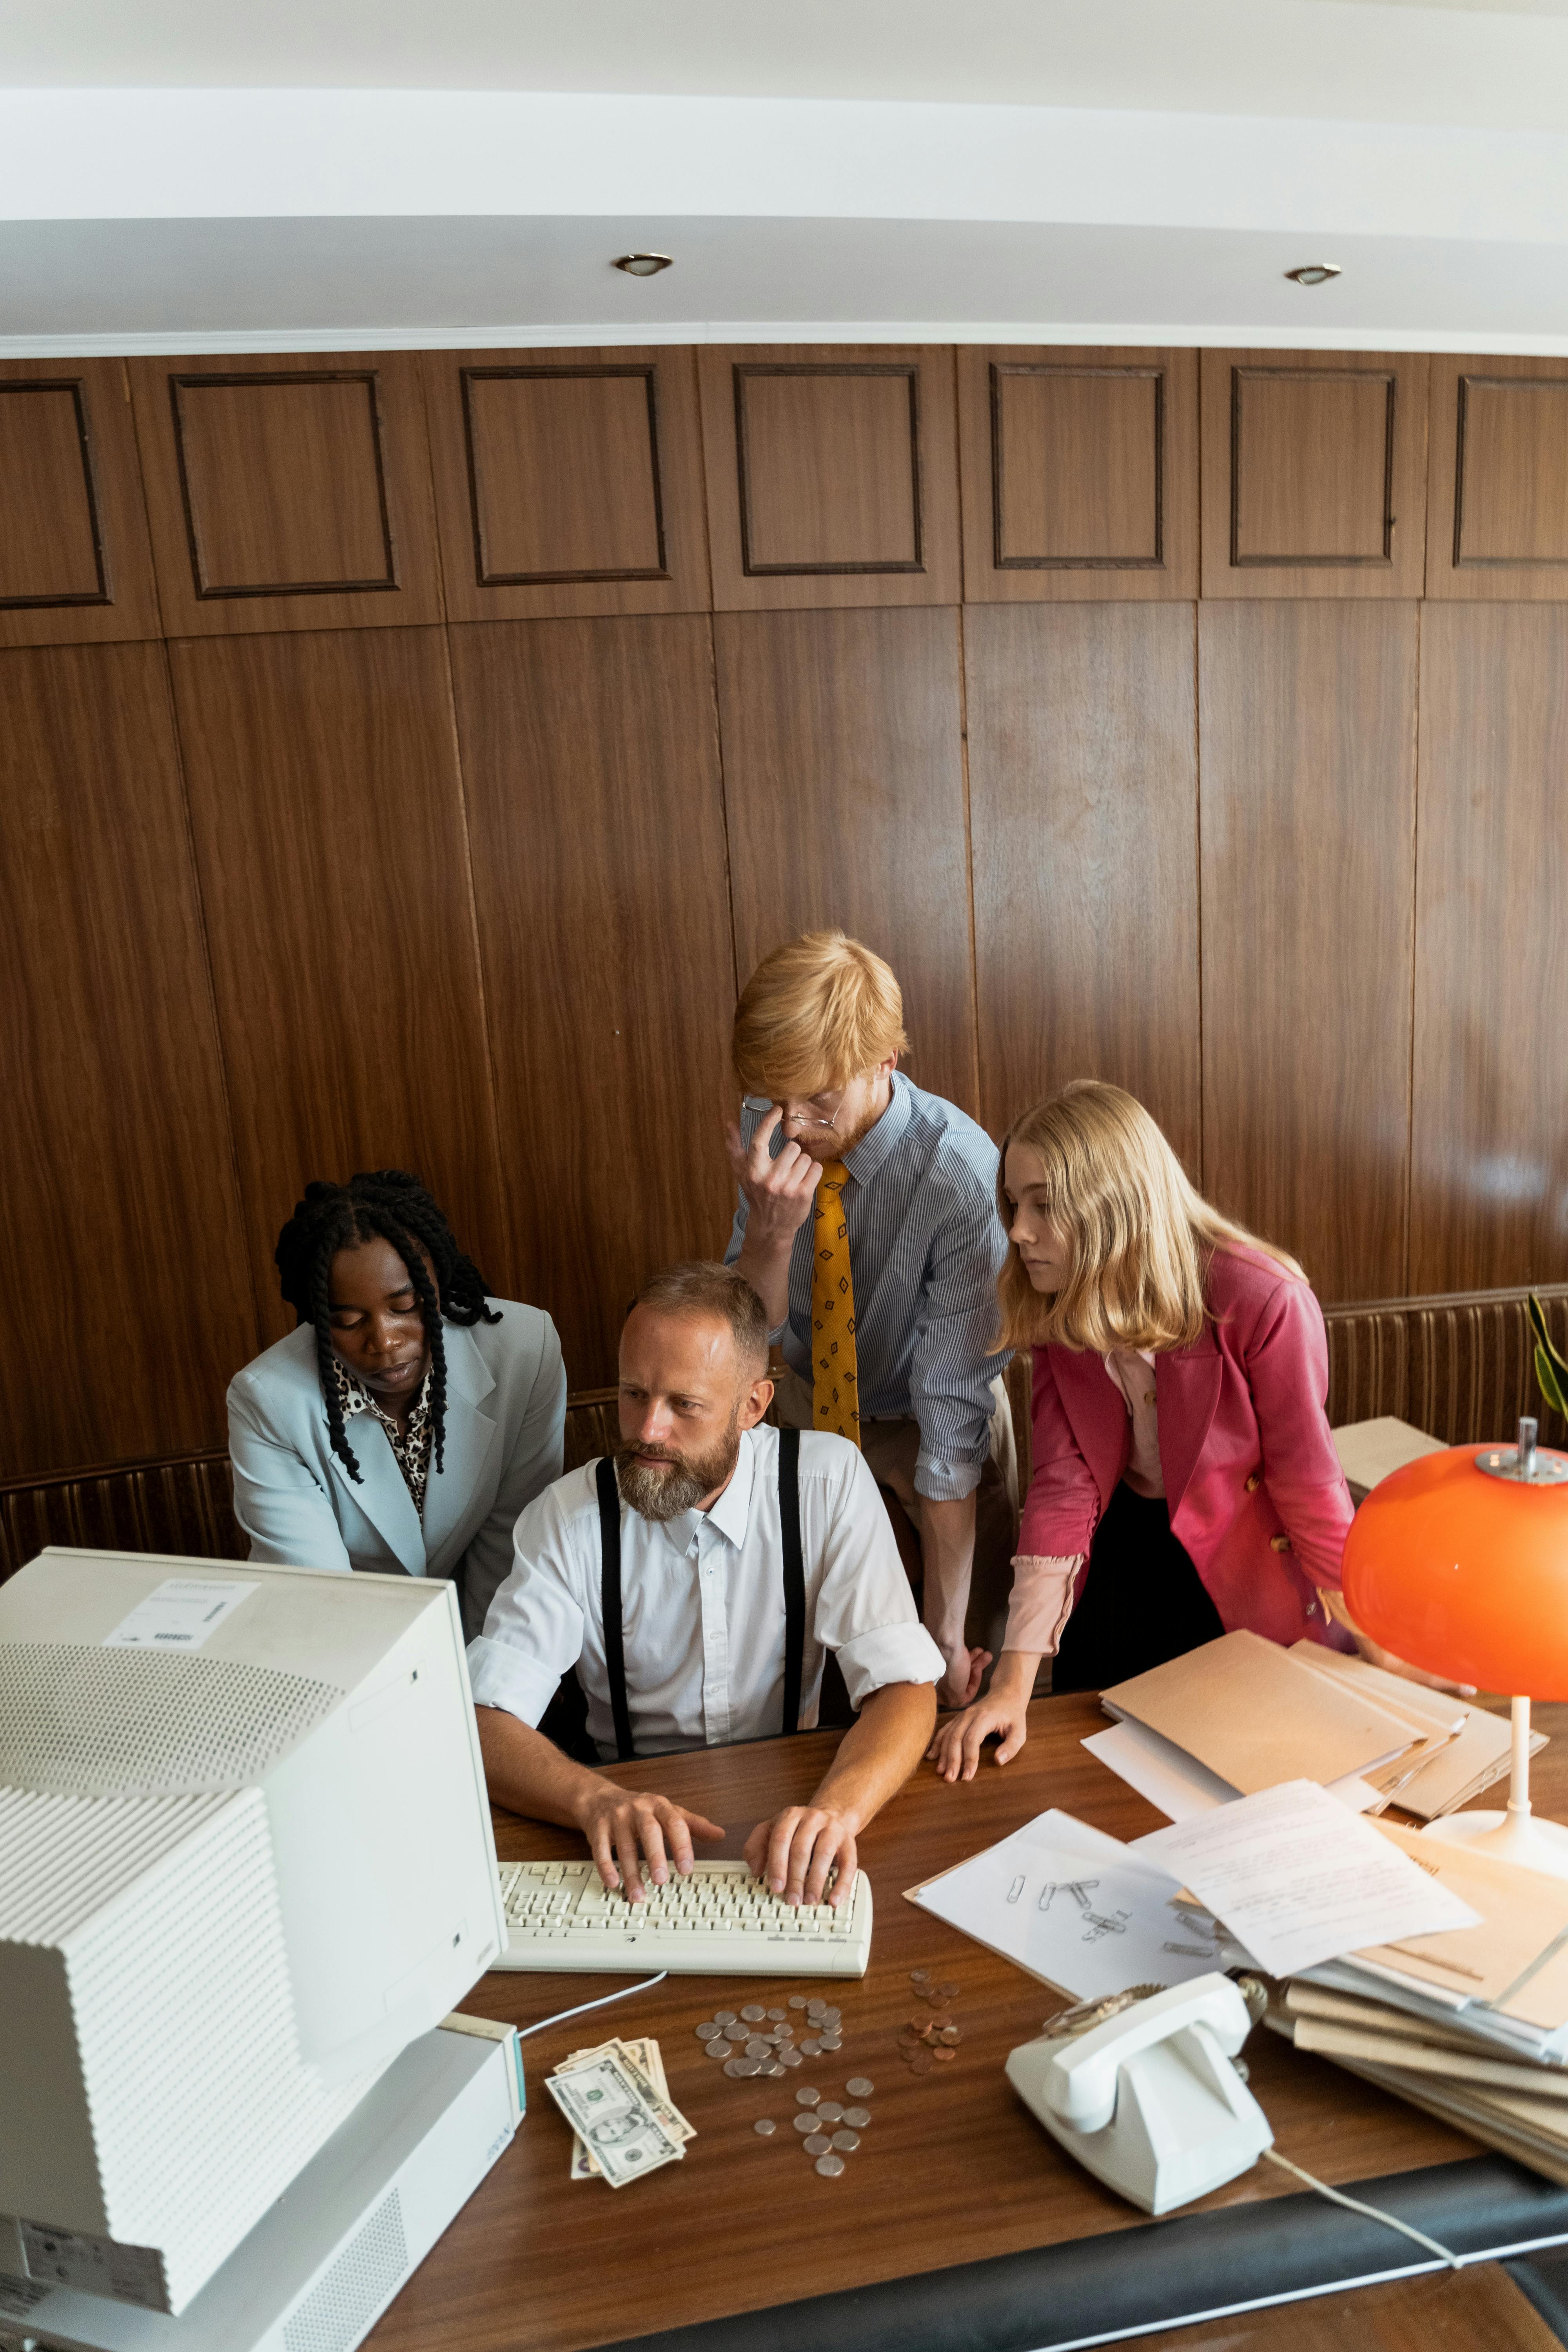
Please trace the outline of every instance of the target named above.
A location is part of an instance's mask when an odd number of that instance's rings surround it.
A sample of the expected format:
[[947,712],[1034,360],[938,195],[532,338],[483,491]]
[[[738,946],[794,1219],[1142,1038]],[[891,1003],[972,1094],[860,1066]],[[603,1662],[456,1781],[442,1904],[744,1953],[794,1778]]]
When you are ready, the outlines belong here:
[[964,597],[1192,600],[1197,353],[964,348]]

